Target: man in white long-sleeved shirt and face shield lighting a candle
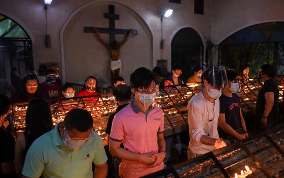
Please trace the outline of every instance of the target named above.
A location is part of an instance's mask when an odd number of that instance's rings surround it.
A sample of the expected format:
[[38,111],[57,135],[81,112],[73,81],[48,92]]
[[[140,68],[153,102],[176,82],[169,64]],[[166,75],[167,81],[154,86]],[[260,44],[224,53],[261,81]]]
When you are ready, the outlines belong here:
[[193,96],[187,106],[189,125],[188,159],[226,146],[219,138],[217,127],[219,117],[219,97],[226,86],[224,67],[211,67],[203,73],[204,87]]

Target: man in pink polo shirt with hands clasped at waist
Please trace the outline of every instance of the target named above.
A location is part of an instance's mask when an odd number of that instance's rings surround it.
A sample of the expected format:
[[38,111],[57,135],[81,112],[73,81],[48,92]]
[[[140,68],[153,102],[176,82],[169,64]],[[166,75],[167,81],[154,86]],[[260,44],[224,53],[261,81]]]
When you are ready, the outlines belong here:
[[163,110],[152,105],[159,92],[153,73],[138,68],[131,74],[130,83],[135,100],[114,117],[110,152],[122,159],[119,176],[132,178],[163,169],[166,143]]

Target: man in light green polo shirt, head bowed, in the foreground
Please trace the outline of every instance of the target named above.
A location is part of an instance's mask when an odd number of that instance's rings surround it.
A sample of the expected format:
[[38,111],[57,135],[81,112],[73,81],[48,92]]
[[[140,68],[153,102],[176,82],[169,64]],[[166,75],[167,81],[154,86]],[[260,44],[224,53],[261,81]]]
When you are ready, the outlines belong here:
[[32,143],[23,177],[106,177],[108,158],[101,138],[92,128],[93,119],[88,111],[68,112],[64,122]]

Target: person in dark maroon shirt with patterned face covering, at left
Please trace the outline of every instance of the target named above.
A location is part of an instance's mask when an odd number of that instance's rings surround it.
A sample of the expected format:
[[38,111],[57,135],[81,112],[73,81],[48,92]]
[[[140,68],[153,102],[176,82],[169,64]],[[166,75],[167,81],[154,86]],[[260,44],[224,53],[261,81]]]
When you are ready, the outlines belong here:
[[44,83],[41,83],[41,90],[43,98],[46,100],[58,99],[61,95],[61,86],[56,83],[58,74],[54,70],[46,71],[46,80]]

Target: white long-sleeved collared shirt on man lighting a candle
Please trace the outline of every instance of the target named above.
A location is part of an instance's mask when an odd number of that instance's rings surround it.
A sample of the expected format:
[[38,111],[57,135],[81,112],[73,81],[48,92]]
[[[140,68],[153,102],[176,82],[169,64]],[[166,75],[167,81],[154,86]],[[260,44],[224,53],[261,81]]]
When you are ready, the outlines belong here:
[[202,92],[193,96],[187,105],[189,126],[189,150],[194,154],[205,154],[215,150],[213,145],[201,143],[202,135],[219,138],[217,131],[219,118],[219,98],[214,103],[207,101]]

